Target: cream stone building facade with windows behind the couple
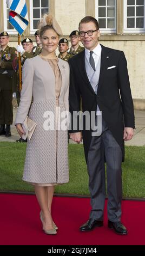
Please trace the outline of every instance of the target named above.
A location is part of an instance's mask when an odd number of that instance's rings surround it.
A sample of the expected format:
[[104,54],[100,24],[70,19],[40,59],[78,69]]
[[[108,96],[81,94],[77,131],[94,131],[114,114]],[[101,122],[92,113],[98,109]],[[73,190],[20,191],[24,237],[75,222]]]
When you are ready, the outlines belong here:
[[[68,40],[84,16],[96,17],[100,43],[126,55],[135,109],[145,109],[145,0],[26,0],[26,3],[30,22],[22,39],[29,36],[35,41],[37,22],[48,11],[56,17]],[[6,0],[1,0],[0,30],[7,31],[9,45],[16,46],[17,32],[9,24],[8,13]]]

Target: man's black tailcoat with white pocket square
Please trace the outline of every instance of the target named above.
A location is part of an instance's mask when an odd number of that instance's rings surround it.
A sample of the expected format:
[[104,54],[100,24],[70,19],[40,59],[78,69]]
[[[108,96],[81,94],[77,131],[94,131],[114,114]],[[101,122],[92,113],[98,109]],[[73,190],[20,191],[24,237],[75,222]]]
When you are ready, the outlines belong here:
[[[100,111],[102,111],[103,119],[106,121],[109,130],[113,133],[114,138],[122,149],[122,161],[124,161],[124,126],[135,128],[134,107],[130,91],[127,61],[122,51],[113,50],[103,45],[101,47],[101,70],[97,95],[85,71],[84,51],[69,60],[70,112],[80,111],[81,98],[83,112],[96,111],[98,104]],[[115,66],[115,68],[108,69],[111,66]],[[71,130],[70,132],[76,131]],[[84,126],[82,132],[85,159],[87,161],[91,142],[91,130],[85,130]]]

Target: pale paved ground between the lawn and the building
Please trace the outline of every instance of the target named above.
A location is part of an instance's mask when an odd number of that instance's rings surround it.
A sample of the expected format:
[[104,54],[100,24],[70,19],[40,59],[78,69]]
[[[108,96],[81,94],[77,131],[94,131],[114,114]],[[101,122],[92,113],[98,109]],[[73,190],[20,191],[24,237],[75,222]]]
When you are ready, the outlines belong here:
[[[13,108],[14,112],[14,121],[17,113],[17,108]],[[135,135],[131,141],[126,142],[126,145],[131,146],[145,146],[145,111],[135,111]],[[11,126],[11,133],[12,136],[9,138],[6,138],[5,136],[0,136],[0,142],[1,141],[8,141],[8,142],[15,142],[16,139],[19,138],[19,135],[17,133],[16,127],[13,124]],[[71,143],[71,140],[70,140]]]

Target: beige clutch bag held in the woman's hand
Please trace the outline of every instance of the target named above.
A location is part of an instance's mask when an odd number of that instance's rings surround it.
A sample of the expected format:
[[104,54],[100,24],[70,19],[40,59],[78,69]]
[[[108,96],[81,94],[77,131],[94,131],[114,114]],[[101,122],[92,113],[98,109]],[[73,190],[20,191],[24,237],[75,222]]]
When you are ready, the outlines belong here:
[[37,123],[27,116],[27,118],[25,118],[25,120],[24,120],[24,123],[22,124],[22,128],[25,132],[25,135],[22,135],[22,138],[23,139],[28,138],[30,141],[30,139],[35,131],[36,126],[37,126]]

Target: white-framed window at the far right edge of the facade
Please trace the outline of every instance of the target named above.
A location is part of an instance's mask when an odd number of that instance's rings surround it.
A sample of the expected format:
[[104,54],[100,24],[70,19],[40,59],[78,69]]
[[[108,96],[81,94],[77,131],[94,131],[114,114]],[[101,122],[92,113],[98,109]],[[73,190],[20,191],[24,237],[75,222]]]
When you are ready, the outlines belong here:
[[145,32],[145,0],[124,0],[124,32]]

